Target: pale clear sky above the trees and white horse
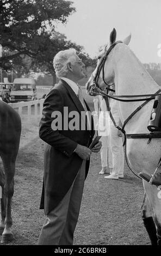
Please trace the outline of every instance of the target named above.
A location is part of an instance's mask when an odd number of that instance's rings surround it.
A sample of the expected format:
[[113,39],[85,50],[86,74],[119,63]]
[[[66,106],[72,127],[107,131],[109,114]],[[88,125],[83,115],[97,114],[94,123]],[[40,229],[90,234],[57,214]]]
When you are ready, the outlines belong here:
[[56,30],[84,46],[90,57],[97,56],[115,28],[117,40],[132,34],[129,47],[141,62],[161,63],[161,0],[71,1],[76,13]]

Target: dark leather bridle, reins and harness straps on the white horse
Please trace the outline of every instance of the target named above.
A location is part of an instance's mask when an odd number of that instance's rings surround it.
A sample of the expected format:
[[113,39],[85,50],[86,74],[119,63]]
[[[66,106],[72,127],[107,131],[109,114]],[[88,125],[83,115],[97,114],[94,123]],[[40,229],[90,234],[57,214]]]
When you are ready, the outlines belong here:
[[[107,93],[108,91],[112,91],[112,92],[115,92],[113,89],[110,89],[109,87],[112,86],[113,84],[107,84],[106,81],[104,80],[104,65],[106,63],[106,60],[107,60],[107,57],[108,57],[108,54],[110,53],[110,51],[112,51],[112,49],[115,47],[116,44],[119,44],[119,43],[122,43],[122,41],[117,41],[115,42],[115,44],[111,45],[109,47],[109,49],[107,50],[107,52],[104,54],[104,57],[102,58],[100,64],[98,65],[98,68],[97,68],[97,72],[96,72],[96,75],[94,77],[94,83],[92,84],[90,90],[88,90],[88,93],[89,95],[91,96],[96,96],[96,95],[101,95],[103,96],[103,99],[106,101],[106,105],[107,105],[107,111],[109,112],[109,115],[110,115],[110,118],[112,119],[113,121],[113,124],[114,126],[120,130],[123,135],[124,135],[124,142],[123,142],[123,146],[125,145],[125,157],[126,157],[126,162],[127,162],[127,165],[129,167],[129,169],[132,171],[132,173],[134,175],[136,175],[139,179],[140,176],[137,175],[131,168],[129,162],[128,162],[128,159],[127,159],[127,149],[126,149],[126,140],[127,138],[148,138],[149,141],[148,143],[150,142],[151,138],[161,138],[161,133],[141,133],[141,134],[126,134],[126,131],[125,131],[125,126],[127,124],[127,122],[135,115],[135,113],[137,113],[141,108],[143,108],[149,101],[155,99],[155,96],[158,96],[158,95],[161,95],[160,92],[161,92],[161,89],[159,89],[156,93],[154,94],[143,94],[143,95],[114,95],[114,96],[111,96],[111,95],[108,95],[104,92],[102,92],[102,90],[98,87],[98,79],[100,77],[100,73],[101,73],[101,70],[102,70],[102,79],[103,79],[103,82],[108,86],[107,87]],[[123,99],[120,99],[120,98],[129,98],[129,97],[147,97],[147,98],[143,98],[143,99],[130,99],[130,100],[123,100]],[[116,125],[116,122],[113,118],[113,115],[112,115],[112,112],[110,111],[110,107],[109,107],[109,100],[108,99],[114,99],[114,100],[117,100],[117,101],[122,101],[122,102],[132,102],[132,101],[145,101],[144,103],[142,103],[140,106],[138,106],[130,115],[129,117],[124,121],[123,123],[123,126],[120,127],[118,125]]]

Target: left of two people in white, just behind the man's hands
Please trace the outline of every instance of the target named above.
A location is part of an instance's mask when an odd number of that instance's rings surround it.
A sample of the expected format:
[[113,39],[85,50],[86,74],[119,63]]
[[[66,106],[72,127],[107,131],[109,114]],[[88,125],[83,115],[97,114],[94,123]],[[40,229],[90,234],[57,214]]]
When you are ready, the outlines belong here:
[[[99,174],[109,174],[113,169],[112,152],[110,150],[110,139],[109,139],[109,113],[107,112],[106,101],[102,96],[94,97],[94,107],[96,113],[96,130],[98,135],[102,136],[100,141],[102,142],[101,153],[101,166],[102,169]],[[95,119],[95,117],[94,117]]]

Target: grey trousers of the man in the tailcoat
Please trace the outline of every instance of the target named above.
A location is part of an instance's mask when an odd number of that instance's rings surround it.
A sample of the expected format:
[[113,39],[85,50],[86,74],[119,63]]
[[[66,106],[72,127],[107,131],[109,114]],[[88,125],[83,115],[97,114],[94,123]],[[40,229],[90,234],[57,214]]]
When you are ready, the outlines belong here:
[[73,181],[59,205],[46,216],[46,222],[41,229],[38,245],[72,245],[73,234],[78,221],[82,201],[85,163]]

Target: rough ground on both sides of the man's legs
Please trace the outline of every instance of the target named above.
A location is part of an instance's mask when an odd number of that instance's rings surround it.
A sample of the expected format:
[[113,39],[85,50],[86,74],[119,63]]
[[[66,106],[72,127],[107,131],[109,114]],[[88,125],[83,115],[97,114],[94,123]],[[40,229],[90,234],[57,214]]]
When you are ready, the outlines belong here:
[[[44,145],[37,120],[22,120],[21,145],[16,161],[13,197],[13,234],[10,245],[36,245],[44,211],[39,210]],[[100,153],[92,154],[75,245],[150,245],[141,220],[142,182],[125,164],[125,178],[106,180],[99,175]]]

